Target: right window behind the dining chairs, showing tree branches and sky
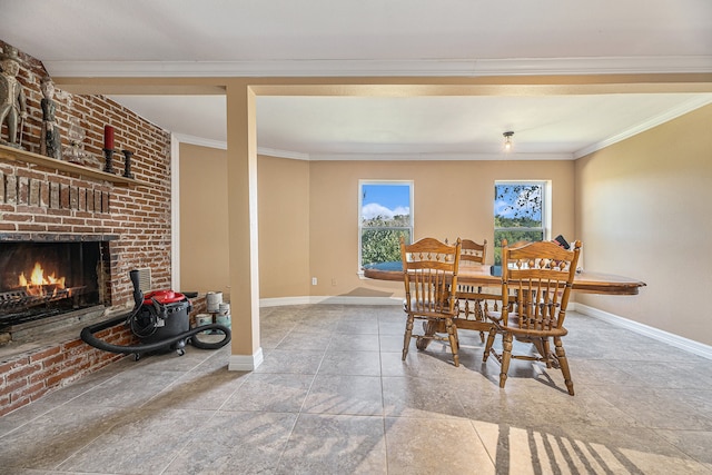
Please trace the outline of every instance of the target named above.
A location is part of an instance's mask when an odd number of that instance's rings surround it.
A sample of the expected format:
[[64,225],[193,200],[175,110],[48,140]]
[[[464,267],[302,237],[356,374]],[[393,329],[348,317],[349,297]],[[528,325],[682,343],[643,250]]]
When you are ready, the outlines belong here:
[[502,240],[547,238],[548,189],[545,181],[495,181],[494,264],[502,264]]

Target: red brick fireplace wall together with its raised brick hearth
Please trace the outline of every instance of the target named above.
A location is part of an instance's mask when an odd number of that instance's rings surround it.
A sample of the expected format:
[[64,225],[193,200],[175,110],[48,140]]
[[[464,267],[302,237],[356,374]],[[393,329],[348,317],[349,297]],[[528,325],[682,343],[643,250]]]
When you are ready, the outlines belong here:
[[[0,48],[4,50],[6,46],[0,40]],[[22,51],[20,58],[18,80],[23,86],[28,106],[23,146],[26,150],[39,154],[40,80],[47,72],[38,59]],[[139,185],[116,186],[52,167],[0,160],[0,234],[118,236],[109,243],[106,289],[113,308],[132,303],[131,269],[148,267],[154,288],[170,287],[170,133],[102,96],[71,95],[57,89],[55,102],[63,147],[69,146],[69,119],[79,119],[86,131],[85,150],[95,158],[86,166],[102,169],[103,126],[113,126],[116,149],[135,152],[131,171]],[[4,126],[1,132],[7,137]],[[123,156],[118,154],[115,158],[115,168],[121,174]],[[117,329],[116,334],[110,330],[105,336],[117,342],[130,337],[123,328]],[[77,338],[2,360],[0,415],[119,357],[121,355],[100,352]]]

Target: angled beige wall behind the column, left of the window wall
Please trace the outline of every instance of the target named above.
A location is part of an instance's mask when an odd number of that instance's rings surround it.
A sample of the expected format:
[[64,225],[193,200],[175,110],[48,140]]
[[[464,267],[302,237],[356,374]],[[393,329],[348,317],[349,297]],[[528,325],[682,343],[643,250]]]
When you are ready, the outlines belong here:
[[[309,295],[309,166],[258,157],[260,298]],[[229,299],[226,150],[180,146],[184,290]]]

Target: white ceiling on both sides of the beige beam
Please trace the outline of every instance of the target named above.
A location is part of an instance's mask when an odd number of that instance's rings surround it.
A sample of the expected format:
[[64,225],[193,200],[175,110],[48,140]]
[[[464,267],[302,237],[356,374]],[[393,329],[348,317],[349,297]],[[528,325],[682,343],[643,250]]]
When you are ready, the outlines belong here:
[[[55,77],[712,73],[710,0],[0,0]],[[187,141],[224,96],[110,96]],[[695,93],[258,97],[258,147],[301,158],[572,158],[712,102]]]

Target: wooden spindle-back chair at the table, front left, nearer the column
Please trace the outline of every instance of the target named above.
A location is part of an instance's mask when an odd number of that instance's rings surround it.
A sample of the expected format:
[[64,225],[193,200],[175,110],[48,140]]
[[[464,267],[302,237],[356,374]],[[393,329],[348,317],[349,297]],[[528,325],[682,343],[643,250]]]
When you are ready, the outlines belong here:
[[[417,347],[424,348],[431,339],[449,342],[453,362],[459,366],[457,327],[453,323],[457,316],[455,289],[461,258],[461,240],[451,246],[435,238],[424,238],[406,245],[400,237],[400,258],[405,300],[403,309],[407,319],[403,342],[403,360],[408,354],[411,339],[417,339]],[[424,335],[413,335],[415,319],[424,321]],[[447,336],[439,336],[436,328],[444,324]],[[428,330],[429,329],[429,330]]]

